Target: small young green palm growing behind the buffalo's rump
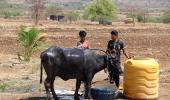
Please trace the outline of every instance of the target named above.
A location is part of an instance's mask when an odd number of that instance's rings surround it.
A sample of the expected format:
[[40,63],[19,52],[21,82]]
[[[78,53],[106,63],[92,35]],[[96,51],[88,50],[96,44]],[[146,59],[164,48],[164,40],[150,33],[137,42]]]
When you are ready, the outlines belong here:
[[28,28],[21,26],[18,32],[18,40],[24,47],[24,61],[30,61],[30,58],[34,51],[40,49],[44,42],[44,35],[40,35],[38,28]]

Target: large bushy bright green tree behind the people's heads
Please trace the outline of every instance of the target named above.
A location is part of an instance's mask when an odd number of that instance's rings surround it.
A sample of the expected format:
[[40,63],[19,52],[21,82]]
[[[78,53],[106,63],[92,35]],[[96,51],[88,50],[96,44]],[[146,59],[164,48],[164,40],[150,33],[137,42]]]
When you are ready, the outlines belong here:
[[93,0],[85,8],[84,16],[92,21],[112,21],[116,17],[116,6],[113,0]]

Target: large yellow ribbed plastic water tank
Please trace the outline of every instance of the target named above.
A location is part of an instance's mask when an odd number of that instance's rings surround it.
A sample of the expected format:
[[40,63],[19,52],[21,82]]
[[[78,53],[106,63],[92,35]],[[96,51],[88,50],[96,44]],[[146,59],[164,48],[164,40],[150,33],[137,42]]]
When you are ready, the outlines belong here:
[[133,58],[124,63],[124,95],[131,99],[156,99],[159,64],[152,58]]

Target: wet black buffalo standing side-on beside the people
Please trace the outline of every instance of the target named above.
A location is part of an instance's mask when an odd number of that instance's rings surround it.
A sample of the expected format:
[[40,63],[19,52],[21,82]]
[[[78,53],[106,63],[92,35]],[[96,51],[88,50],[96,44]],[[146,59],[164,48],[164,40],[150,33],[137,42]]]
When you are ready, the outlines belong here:
[[78,91],[81,82],[83,82],[85,87],[84,98],[90,99],[91,81],[94,75],[107,68],[107,66],[112,66],[110,56],[95,54],[89,49],[71,49],[53,46],[42,52],[40,57],[40,83],[42,83],[42,69],[44,67],[47,74],[44,81],[47,98],[50,98],[51,90],[53,97],[57,99],[54,91],[54,80],[56,76],[59,76],[65,81],[76,79],[76,90],[74,94],[76,100],[79,99]]

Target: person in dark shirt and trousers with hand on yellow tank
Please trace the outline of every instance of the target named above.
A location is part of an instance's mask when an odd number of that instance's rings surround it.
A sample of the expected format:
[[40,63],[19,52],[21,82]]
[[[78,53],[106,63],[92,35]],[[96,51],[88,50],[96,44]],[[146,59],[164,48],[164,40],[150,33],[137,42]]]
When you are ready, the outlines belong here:
[[111,40],[108,42],[107,52],[111,53],[112,57],[114,58],[112,60],[114,66],[110,69],[110,83],[115,81],[117,87],[119,87],[120,84],[119,75],[122,73],[120,66],[121,51],[123,51],[123,54],[126,56],[126,58],[131,58],[125,51],[124,43],[118,39],[118,32],[113,30],[111,32]]

